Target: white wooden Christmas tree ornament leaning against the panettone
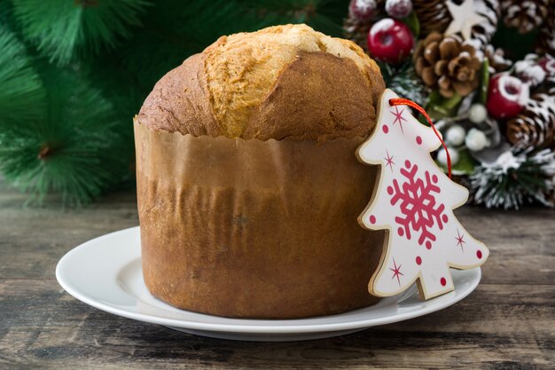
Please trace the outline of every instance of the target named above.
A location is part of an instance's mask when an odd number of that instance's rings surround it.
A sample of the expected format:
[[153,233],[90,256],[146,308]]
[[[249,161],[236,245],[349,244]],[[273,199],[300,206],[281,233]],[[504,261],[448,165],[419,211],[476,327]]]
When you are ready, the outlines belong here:
[[[428,299],[454,289],[449,267],[480,266],[489,250],[452,212],[465,203],[468,191],[432,160],[429,153],[440,146],[436,133],[407,106],[391,104],[395,98],[390,90],[382,94],[376,130],[357,150],[360,161],[381,165],[379,187],[359,222],[370,230],[390,230],[369,290],[395,295],[418,280],[420,296]],[[387,166],[389,157],[395,165]]]

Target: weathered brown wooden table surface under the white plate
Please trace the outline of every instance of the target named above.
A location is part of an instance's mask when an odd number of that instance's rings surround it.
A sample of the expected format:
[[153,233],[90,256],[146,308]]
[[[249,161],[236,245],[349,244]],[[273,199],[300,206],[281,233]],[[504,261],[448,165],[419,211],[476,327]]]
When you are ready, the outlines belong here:
[[457,210],[491,256],[477,290],[448,309],[324,340],[232,342],[123,319],[59,287],[68,250],[138,224],[133,193],[76,210],[23,209],[24,200],[0,185],[1,369],[555,366],[552,210]]

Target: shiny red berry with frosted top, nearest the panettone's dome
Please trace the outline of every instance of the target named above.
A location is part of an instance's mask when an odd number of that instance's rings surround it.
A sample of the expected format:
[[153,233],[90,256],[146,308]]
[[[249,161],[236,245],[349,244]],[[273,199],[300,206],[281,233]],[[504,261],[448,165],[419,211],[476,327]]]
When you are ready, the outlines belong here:
[[410,29],[403,22],[391,18],[374,23],[368,33],[368,50],[371,55],[391,64],[407,58],[413,43]]

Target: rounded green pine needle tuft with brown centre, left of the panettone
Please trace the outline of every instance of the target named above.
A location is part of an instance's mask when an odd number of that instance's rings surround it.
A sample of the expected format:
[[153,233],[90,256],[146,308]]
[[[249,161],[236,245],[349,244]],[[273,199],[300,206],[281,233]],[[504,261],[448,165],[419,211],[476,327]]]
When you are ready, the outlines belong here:
[[74,71],[43,65],[47,111],[43,121],[0,128],[4,177],[43,201],[58,193],[64,203],[92,200],[129,172],[113,106]]

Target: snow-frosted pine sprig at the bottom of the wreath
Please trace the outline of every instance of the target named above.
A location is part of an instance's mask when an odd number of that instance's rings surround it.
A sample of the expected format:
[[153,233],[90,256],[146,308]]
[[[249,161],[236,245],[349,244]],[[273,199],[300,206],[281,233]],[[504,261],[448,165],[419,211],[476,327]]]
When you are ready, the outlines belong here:
[[544,149],[508,150],[491,164],[482,164],[470,177],[474,201],[488,208],[519,209],[524,201],[553,207],[549,194],[555,178],[555,153]]

